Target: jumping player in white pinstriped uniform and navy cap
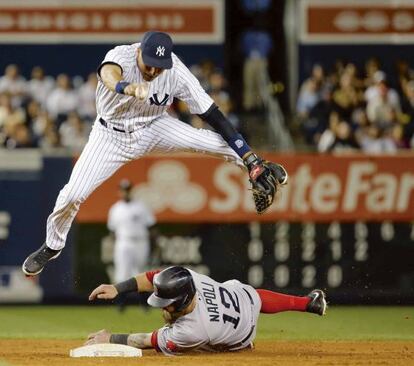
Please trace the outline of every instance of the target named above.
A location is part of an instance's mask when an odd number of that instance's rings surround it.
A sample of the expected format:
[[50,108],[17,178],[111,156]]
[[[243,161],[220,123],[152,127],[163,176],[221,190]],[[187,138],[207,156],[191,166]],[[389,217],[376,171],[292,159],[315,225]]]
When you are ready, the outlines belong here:
[[[285,169],[252,152],[172,48],[168,34],[151,31],[140,43],[106,54],[98,68],[97,117],[88,143],[47,219],[45,243],[23,263],[26,275],[37,275],[59,256],[80,205],[100,184],[152,152],[205,153],[245,167],[258,213],[272,204],[278,185],[287,183]],[[217,132],[171,117],[174,97]]]

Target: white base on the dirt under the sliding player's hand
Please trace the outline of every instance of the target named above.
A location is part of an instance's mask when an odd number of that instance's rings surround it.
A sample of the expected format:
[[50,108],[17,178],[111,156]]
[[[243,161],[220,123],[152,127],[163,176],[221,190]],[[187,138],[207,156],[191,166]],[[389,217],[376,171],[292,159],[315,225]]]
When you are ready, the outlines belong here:
[[123,344],[101,343],[71,349],[70,357],[142,357],[142,350]]

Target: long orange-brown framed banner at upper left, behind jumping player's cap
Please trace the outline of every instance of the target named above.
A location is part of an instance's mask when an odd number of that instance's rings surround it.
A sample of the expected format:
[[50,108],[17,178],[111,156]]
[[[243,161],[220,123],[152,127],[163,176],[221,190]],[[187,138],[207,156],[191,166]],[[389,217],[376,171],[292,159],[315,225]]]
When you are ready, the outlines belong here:
[[3,0],[0,42],[136,42],[152,29],[169,32],[176,43],[221,43],[221,0]]

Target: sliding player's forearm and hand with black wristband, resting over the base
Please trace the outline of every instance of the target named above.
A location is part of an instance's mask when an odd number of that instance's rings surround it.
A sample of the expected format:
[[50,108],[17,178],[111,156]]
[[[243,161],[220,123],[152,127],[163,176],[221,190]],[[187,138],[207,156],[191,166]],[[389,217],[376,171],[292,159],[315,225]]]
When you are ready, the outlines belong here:
[[102,329],[98,332],[89,334],[85,346],[100,343],[115,343],[126,344],[140,349],[152,348],[151,336],[152,333],[112,334],[111,332]]

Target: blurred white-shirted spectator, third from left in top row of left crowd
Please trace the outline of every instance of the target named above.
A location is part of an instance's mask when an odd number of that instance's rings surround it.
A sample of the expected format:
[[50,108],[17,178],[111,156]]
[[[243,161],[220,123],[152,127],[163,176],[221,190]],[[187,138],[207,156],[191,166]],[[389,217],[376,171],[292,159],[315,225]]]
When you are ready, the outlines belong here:
[[68,113],[76,111],[78,97],[72,89],[68,75],[60,74],[56,79],[56,87],[50,93],[46,102],[46,109],[52,118],[56,119],[58,125],[66,119]]

